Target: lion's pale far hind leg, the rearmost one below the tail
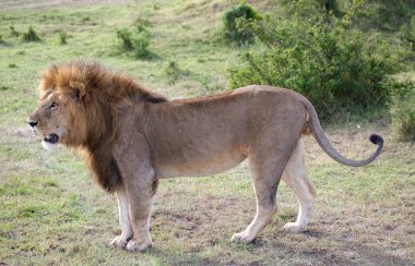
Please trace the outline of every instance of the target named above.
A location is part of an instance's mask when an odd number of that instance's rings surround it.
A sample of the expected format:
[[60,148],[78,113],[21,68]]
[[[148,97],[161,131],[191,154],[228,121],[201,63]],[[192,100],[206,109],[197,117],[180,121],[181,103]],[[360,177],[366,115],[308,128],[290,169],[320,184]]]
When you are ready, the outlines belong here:
[[299,204],[297,220],[286,223],[284,230],[288,232],[305,231],[310,221],[316,190],[307,178],[304,162],[304,144],[301,140],[298,141],[297,146],[289,157],[283,173],[283,180],[294,191]]

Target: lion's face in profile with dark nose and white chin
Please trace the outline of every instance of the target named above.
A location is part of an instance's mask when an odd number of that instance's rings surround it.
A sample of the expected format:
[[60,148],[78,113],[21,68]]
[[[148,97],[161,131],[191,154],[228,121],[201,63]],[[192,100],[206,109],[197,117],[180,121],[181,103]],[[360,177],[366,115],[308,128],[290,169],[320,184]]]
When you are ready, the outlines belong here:
[[67,102],[54,90],[40,97],[38,106],[28,118],[32,129],[42,134],[42,142],[46,149],[55,147],[58,143],[70,142],[69,113]]

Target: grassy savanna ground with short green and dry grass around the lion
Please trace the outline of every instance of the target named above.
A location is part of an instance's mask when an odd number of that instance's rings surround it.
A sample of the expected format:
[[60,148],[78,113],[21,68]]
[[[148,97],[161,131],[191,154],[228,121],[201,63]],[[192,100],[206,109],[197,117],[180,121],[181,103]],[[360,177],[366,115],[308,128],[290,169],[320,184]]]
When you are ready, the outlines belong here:
[[[278,211],[257,242],[230,242],[254,215],[242,164],[214,177],[162,181],[152,215],[154,246],[144,253],[109,246],[120,232],[115,197],[93,183],[73,152],[45,152],[26,125],[37,101],[39,71],[62,59],[95,58],[168,97],[182,98],[226,89],[226,70],[247,48],[220,41],[221,17],[232,1],[98,2],[0,1],[0,264],[415,263],[414,145],[392,140],[386,112],[325,125],[349,157],[374,150],[370,132],[386,137],[384,152],[364,168],[334,162],[306,138],[308,172],[318,193],[305,233],[282,229],[297,215],[294,194],[282,183]],[[260,10],[274,4],[251,2]],[[143,20],[150,22],[155,56],[137,60],[118,51],[115,28]],[[10,26],[22,33],[29,25],[42,41],[11,36]],[[59,44],[61,31],[67,45]],[[174,81],[166,71],[171,62],[180,69]]]

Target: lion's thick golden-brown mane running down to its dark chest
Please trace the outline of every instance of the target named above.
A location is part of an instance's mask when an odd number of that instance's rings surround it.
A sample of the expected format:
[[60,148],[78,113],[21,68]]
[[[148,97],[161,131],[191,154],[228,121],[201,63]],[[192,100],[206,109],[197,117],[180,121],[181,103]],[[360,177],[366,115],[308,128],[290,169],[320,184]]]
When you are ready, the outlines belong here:
[[105,69],[94,61],[54,64],[40,76],[40,93],[59,95],[68,113],[70,140],[66,145],[82,152],[94,179],[108,192],[122,183],[112,156],[120,125],[117,116],[140,101],[158,104],[166,98],[133,78]]

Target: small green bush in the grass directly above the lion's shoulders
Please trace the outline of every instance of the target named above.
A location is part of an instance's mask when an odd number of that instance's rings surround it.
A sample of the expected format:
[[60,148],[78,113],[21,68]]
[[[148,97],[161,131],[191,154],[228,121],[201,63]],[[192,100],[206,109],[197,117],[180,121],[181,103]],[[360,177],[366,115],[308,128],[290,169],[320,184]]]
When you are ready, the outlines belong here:
[[120,40],[120,48],[123,51],[132,52],[137,58],[150,58],[150,34],[141,24],[138,24],[135,31],[129,28],[120,28],[116,32],[117,38]]

